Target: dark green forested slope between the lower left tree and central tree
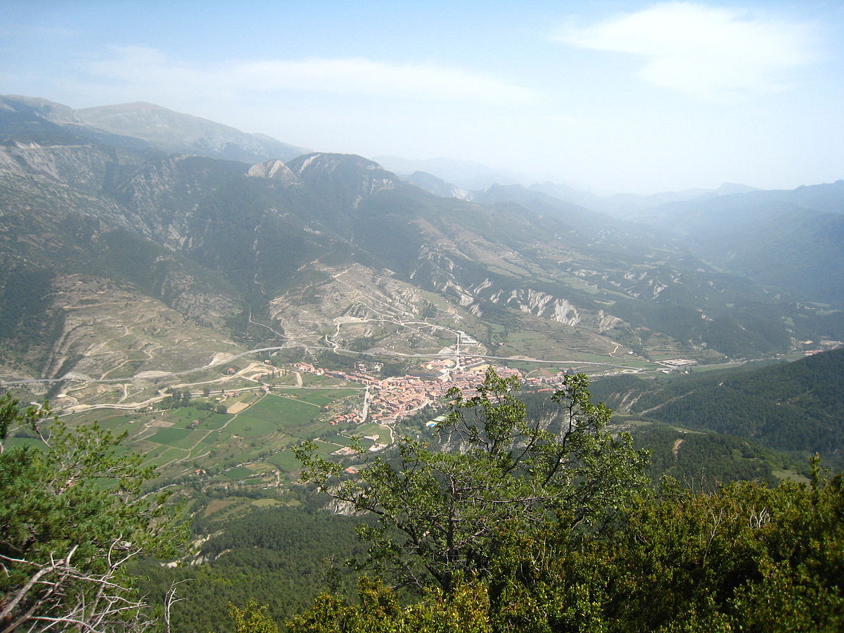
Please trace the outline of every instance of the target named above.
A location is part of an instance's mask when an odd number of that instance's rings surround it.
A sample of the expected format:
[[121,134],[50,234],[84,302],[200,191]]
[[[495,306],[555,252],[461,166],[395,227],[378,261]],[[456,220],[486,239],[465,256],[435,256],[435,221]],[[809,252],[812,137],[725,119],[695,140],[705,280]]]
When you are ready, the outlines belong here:
[[197,535],[210,535],[197,553],[199,560],[178,567],[143,560],[132,571],[150,602],[161,606],[167,587],[192,579],[179,586],[183,599],[172,608],[174,630],[229,631],[226,605],[250,599],[267,605],[267,614],[282,621],[305,609],[326,586],[338,592],[354,589],[357,574],[344,560],[365,555],[354,531],[359,522],[285,506],[253,509],[245,517],[197,517]]

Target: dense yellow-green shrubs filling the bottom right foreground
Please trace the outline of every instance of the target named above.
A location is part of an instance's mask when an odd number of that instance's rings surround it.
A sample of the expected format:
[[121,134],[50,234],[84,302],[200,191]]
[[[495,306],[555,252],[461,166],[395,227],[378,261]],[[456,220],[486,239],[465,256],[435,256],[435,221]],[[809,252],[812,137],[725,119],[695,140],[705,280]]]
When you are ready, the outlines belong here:
[[324,595],[289,631],[833,633],[844,626],[842,512],[841,476],[711,494],[667,481],[602,535],[573,540],[559,520],[506,528],[490,573],[449,595],[402,608],[364,581],[359,603]]

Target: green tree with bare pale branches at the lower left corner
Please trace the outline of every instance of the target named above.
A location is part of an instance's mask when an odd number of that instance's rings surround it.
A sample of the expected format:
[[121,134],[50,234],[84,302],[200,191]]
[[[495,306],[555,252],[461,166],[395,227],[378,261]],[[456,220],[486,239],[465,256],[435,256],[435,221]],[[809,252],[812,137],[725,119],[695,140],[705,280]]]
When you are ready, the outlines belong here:
[[16,406],[3,398],[2,434],[28,425],[45,446],[0,454],[0,618],[8,630],[141,627],[143,601],[125,563],[173,558],[186,536],[166,495],[138,494],[152,470],[118,454],[122,437],[97,425],[70,430],[55,419],[46,429],[49,408]]

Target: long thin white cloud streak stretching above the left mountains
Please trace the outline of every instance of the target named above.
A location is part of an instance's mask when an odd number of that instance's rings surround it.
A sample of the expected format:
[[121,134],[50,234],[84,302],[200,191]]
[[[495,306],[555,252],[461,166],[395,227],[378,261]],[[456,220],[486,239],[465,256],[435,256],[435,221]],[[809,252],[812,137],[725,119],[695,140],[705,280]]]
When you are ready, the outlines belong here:
[[317,91],[497,105],[538,100],[532,90],[498,78],[425,63],[395,64],[349,57],[230,61],[212,66],[173,62],[150,48],[120,47],[114,51],[115,57],[91,63],[89,72],[124,84],[208,92]]

